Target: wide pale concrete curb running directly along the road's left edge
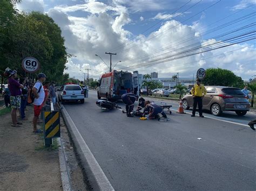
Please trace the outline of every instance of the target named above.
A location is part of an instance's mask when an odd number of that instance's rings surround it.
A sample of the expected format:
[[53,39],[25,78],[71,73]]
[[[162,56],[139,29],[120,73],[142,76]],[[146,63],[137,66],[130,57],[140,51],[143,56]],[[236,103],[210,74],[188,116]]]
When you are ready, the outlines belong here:
[[102,168],[100,168],[97,160],[93,156],[90,148],[85,143],[85,140],[80,135],[75,123],[72,121],[64,105],[61,105],[63,119],[69,129],[73,143],[76,146],[78,157],[81,165],[87,174],[89,182],[95,190],[114,190],[109,180],[106,178]]

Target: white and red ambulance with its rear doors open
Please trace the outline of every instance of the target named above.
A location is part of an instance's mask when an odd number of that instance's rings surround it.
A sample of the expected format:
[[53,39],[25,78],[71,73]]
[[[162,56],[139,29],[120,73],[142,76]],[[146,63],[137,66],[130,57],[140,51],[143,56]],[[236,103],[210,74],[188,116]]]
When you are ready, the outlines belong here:
[[105,97],[107,100],[120,100],[126,93],[133,93],[139,96],[141,87],[138,71],[124,72],[113,70],[105,73],[100,78],[98,88],[98,99]]

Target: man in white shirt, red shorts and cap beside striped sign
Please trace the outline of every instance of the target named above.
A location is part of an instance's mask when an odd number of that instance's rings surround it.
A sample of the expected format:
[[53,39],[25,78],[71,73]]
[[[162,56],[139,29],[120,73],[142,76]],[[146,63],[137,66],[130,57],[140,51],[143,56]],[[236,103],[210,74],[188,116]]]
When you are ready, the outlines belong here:
[[37,120],[38,116],[44,105],[44,88],[43,82],[46,80],[46,76],[43,73],[38,74],[38,81],[32,88],[32,92],[35,95],[35,100],[33,101],[34,105],[34,117],[33,117],[33,132],[40,133],[42,130],[37,129]]

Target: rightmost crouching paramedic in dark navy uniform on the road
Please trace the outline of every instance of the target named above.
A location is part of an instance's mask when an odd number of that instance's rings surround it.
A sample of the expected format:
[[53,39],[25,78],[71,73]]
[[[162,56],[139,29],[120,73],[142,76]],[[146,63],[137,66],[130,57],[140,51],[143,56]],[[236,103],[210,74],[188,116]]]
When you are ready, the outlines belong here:
[[159,121],[160,120],[159,115],[163,116],[164,118],[167,118],[164,112],[164,109],[157,104],[150,103],[150,101],[145,102],[144,115],[146,111],[149,111],[149,116],[148,116],[149,119],[157,118]]

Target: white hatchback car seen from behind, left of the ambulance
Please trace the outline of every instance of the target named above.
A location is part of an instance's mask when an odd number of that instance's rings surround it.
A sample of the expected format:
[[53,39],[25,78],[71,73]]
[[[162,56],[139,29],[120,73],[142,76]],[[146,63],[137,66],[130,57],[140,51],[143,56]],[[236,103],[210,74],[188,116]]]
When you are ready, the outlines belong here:
[[58,99],[64,104],[66,101],[80,101],[84,103],[84,90],[77,84],[67,83],[60,89],[57,89]]

